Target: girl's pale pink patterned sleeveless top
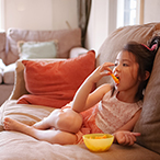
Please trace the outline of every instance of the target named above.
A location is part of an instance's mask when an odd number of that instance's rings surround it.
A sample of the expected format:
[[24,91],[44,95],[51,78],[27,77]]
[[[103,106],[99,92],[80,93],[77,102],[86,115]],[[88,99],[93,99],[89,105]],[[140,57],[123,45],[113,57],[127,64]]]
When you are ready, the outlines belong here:
[[124,126],[142,106],[142,101],[126,103],[119,101],[116,94],[115,91],[114,95],[111,96],[111,91],[108,91],[99,103],[95,124],[103,133],[113,134]]

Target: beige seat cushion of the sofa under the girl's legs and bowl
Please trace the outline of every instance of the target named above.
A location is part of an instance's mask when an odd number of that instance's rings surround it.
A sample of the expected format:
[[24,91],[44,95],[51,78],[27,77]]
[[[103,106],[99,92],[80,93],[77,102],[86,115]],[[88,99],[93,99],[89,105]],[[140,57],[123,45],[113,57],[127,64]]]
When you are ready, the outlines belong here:
[[134,145],[123,147],[113,144],[105,152],[91,152],[83,145],[57,145],[35,138],[19,132],[3,130],[2,121],[10,116],[19,122],[33,125],[48,116],[53,107],[16,104],[9,100],[0,107],[0,159],[1,160],[159,160],[160,155]]

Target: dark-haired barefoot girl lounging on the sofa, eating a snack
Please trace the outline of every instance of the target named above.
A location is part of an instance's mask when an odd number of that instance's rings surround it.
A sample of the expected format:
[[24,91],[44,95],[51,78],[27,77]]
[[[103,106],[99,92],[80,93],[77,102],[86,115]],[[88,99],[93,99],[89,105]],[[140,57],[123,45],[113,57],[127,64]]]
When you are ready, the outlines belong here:
[[[5,130],[21,132],[50,144],[80,144],[82,135],[108,133],[114,142],[132,146],[139,133],[132,133],[142,106],[142,91],[149,80],[160,37],[149,47],[129,42],[117,55],[115,64],[98,67],[77,91],[72,103],[56,108],[43,121],[27,126],[5,117]],[[113,67],[112,70],[110,67]],[[105,83],[90,93],[102,77],[114,73],[118,83]]]

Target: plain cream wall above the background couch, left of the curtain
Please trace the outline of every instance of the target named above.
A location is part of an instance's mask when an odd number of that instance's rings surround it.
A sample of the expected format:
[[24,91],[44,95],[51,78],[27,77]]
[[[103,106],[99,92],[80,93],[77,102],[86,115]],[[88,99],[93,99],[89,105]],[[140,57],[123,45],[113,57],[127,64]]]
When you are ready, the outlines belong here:
[[61,30],[78,27],[76,0],[3,0],[4,30]]

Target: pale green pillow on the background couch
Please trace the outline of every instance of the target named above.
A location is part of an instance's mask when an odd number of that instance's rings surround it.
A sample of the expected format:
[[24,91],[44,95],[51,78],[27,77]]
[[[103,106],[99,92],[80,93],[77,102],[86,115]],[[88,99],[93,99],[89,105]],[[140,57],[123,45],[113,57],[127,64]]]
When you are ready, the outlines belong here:
[[18,42],[21,59],[56,58],[58,41],[50,42]]

